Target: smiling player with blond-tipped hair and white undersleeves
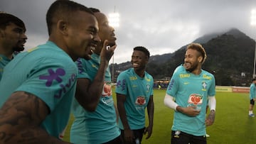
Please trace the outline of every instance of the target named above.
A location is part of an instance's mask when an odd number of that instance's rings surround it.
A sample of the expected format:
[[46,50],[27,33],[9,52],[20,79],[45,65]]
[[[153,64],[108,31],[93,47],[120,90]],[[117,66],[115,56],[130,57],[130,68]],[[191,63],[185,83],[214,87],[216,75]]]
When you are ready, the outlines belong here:
[[[206,126],[215,120],[216,100],[215,78],[201,68],[205,60],[202,45],[191,43],[186,48],[184,64],[176,68],[169,82],[164,104],[175,110],[172,144],[206,144]],[[207,103],[210,113],[206,117]]]

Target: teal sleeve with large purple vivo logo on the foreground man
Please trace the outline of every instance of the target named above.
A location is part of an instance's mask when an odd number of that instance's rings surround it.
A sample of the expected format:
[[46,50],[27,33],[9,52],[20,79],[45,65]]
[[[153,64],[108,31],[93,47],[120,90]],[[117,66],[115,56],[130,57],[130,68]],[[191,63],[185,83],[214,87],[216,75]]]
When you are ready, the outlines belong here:
[[37,62],[26,79],[16,91],[29,92],[42,99],[50,108],[63,99],[63,96],[75,89],[78,74],[75,63],[70,60],[53,62],[45,59]]

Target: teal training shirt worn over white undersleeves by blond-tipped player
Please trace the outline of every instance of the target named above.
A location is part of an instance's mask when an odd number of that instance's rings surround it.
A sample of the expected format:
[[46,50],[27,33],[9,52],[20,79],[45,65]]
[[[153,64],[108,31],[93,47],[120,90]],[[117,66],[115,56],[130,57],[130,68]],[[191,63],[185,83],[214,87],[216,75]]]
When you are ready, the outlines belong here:
[[181,65],[176,68],[166,93],[174,96],[181,107],[197,106],[201,109],[198,116],[186,116],[174,112],[172,131],[183,131],[191,135],[206,135],[206,105],[208,96],[215,96],[215,78],[213,74],[201,70],[201,74],[187,72]]

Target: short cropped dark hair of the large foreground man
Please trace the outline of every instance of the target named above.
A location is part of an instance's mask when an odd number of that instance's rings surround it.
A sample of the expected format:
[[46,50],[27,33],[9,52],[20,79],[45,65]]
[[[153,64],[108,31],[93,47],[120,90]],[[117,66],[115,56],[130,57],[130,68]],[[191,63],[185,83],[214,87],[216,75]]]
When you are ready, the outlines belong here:
[[59,19],[69,19],[74,16],[76,11],[85,11],[87,13],[92,13],[89,8],[78,4],[75,1],[69,0],[57,0],[50,5],[46,13],[46,23],[48,27],[48,34],[50,35],[52,31],[53,23],[56,23]]

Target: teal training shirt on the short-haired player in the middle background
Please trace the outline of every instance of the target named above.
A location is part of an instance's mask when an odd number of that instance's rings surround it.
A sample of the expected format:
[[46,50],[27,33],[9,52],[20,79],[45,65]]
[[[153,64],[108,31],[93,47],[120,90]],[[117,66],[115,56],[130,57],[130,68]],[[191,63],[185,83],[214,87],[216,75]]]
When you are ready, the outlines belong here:
[[[154,79],[145,72],[144,77],[139,77],[133,68],[121,72],[117,77],[116,93],[124,94],[126,101],[124,108],[127,113],[127,121],[132,130],[144,128],[145,108],[149,103],[150,96],[153,96]],[[124,129],[121,119],[119,128]]]

